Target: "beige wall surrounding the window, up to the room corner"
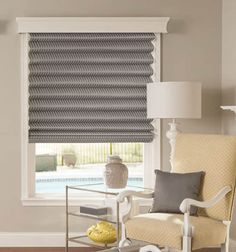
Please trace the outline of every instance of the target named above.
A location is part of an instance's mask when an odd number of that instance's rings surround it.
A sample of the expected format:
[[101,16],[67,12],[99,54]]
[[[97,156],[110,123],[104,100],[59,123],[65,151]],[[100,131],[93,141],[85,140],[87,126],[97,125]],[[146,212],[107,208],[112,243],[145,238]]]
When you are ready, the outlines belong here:
[[[170,33],[163,37],[163,80],[203,83],[203,119],[182,121],[181,128],[220,132],[220,0],[0,0],[0,6],[0,231],[64,231],[64,208],[23,207],[20,200],[17,16],[170,16]],[[163,147],[163,166],[168,169],[164,136]]]

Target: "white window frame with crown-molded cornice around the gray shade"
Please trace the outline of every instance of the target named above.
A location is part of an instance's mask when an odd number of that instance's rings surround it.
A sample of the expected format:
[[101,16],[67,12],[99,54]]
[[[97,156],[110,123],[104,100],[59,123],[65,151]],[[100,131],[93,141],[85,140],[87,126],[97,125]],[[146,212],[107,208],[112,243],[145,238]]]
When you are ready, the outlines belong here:
[[[106,17],[106,18],[17,18],[21,34],[21,200],[25,206],[62,206],[61,194],[35,194],[35,145],[28,143],[28,38],[33,32],[153,32],[154,82],[161,81],[161,33],[167,33],[168,17]],[[155,121],[155,138],[144,144],[144,186],[154,186],[154,170],[161,169],[161,121]],[[84,198],[83,203],[100,201]],[[76,199],[72,204],[77,205]],[[81,204],[81,200],[80,200]]]

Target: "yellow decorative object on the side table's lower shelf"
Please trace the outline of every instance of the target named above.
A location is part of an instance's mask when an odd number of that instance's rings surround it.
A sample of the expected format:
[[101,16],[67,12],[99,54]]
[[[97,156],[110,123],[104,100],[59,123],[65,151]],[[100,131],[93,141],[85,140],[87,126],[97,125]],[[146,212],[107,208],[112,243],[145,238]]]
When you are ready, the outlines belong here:
[[87,230],[87,236],[94,242],[109,244],[116,241],[116,229],[111,223],[100,221]]

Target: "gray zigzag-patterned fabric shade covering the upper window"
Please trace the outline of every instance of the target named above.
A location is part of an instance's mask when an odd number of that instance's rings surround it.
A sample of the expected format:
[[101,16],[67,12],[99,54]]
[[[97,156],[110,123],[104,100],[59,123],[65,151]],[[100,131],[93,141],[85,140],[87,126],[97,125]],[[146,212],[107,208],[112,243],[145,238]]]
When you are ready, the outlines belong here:
[[31,33],[29,142],[150,142],[153,33]]

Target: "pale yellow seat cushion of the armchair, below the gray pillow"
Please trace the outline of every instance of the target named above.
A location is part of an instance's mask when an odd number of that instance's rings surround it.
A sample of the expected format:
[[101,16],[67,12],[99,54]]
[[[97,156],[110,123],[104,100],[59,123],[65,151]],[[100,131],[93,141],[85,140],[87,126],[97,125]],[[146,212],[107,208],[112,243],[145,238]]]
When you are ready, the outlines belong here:
[[[142,240],[159,246],[182,249],[182,214],[148,213],[137,215],[125,223],[128,238]],[[190,217],[194,227],[192,249],[220,246],[226,237],[226,226],[208,217]]]

